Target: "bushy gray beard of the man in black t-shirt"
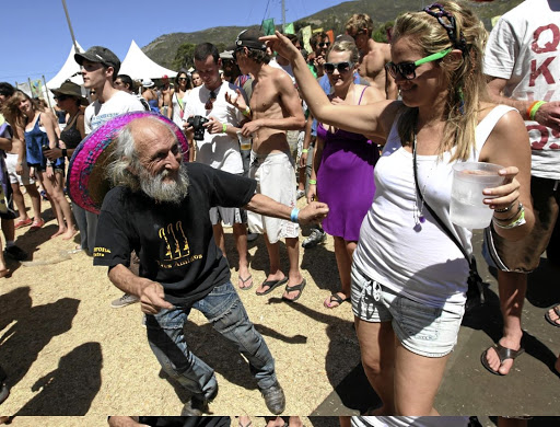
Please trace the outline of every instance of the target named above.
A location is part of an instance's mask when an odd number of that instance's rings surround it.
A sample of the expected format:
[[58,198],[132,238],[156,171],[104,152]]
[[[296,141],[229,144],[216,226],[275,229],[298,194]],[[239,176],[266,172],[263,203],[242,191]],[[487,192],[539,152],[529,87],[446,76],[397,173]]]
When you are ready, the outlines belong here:
[[139,176],[140,188],[155,201],[179,205],[188,194],[187,169],[182,165],[175,181],[164,182],[168,174],[170,171],[164,171],[160,175],[151,176],[147,171],[142,171]]

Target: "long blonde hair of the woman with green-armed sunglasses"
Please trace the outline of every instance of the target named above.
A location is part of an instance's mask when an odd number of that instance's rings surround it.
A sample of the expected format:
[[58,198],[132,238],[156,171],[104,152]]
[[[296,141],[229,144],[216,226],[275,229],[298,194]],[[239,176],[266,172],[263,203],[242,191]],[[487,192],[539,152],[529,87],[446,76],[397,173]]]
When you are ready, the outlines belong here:
[[[487,81],[482,72],[482,55],[488,34],[482,22],[469,9],[453,1],[441,4],[455,19],[455,39],[429,13],[407,12],[397,18],[393,30],[393,43],[399,37],[410,37],[424,55],[446,48],[462,48],[463,56],[456,60],[450,55],[439,60],[450,88],[445,100],[445,128],[438,149],[439,154],[456,147],[452,160],[466,160],[475,147],[475,130],[481,101],[489,101]],[[462,42],[463,39],[463,42]],[[398,122],[402,143],[411,142],[418,119],[418,108],[404,107]]]

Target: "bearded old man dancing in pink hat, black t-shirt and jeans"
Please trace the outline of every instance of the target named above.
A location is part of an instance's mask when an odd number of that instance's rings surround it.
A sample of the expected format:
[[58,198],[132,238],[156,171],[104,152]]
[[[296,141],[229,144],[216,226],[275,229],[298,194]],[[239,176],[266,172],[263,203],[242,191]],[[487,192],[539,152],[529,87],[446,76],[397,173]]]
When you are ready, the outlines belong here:
[[[77,169],[70,173],[85,180],[84,171],[91,171],[91,183],[92,176],[100,176],[96,169],[103,168],[98,163],[105,158],[93,160],[90,152],[112,145],[105,169],[115,187],[100,197],[94,265],[109,267],[113,284],[140,298],[153,353],[165,372],[192,393],[182,415],[208,412],[208,402],[218,393],[212,368],[190,351],[185,339],[183,328],[191,309],[202,312],[247,358],[268,409],[280,414],[285,399],[275,360],[231,282],[230,266],[206,212],[217,205],[244,206],[305,223],[324,218],[328,207],[316,203],[299,211],[255,194],[253,180],[184,162],[188,150],[184,135],[160,115],[130,113],[100,128],[94,137],[74,155]],[[81,191],[91,185],[72,186],[71,197],[91,208],[95,204],[88,206]],[[132,250],[140,256],[139,275],[127,268]]]

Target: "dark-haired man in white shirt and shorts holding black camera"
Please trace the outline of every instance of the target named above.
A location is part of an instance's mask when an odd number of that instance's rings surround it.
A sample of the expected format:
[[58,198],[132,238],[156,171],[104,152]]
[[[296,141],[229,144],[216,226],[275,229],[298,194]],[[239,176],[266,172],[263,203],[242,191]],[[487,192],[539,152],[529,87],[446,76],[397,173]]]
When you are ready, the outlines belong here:
[[[196,142],[197,162],[208,164],[220,171],[243,175],[237,131],[245,119],[242,113],[225,100],[225,95],[236,96],[236,90],[220,79],[222,60],[214,45],[202,43],[195,47],[195,67],[203,84],[192,89],[185,97],[185,116],[202,116],[210,122],[205,125],[202,140]],[[189,138],[192,128],[185,122]],[[238,208],[213,207],[210,209],[214,239],[225,256],[225,243],[222,222],[233,227],[235,247],[240,255],[238,287],[248,290],[253,287],[253,276],[247,259],[246,215]]]

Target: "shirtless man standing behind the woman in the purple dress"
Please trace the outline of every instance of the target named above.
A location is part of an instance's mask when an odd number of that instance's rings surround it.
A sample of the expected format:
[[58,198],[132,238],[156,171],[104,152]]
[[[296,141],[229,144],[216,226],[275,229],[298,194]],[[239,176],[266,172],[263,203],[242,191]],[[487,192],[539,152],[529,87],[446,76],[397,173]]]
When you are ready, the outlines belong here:
[[397,99],[395,80],[385,71],[390,61],[390,47],[387,43],[377,43],[372,37],[373,21],[365,13],[354,13],[346,23],[346,33],[354,39],[360,49],[358,72],[370,82],[372,88],[385,94],[387,100]]

